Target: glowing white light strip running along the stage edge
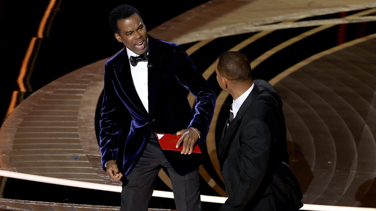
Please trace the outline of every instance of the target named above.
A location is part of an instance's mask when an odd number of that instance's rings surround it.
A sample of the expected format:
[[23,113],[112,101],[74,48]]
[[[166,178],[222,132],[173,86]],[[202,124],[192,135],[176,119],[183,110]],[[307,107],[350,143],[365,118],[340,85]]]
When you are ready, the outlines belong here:
[[[35,182],[45,182],[50,184],[57,184],[57,185],[65,185],[71,187],[79,187],[79,188],[88,188],[94,190],[103,190],[103,191],[112,191],[112,192],[121,192],[121,186],[117,185],[106,185],[106,184],[97,184],[92,182],[81,182],[81,181],[74,181],[69,179],[59,179],[59,178],[52,178],[47,176],[38,176],[38,175],[30,175],[26,173],[19,173],[19,172],[11,172],[0,170],[0,176],[16,178],[16,179],[24,179],[29,181]],[[168,191],[159,191],[154,190],[153,196],[155,197],[163,197],[163,198],[174,198],[174,194]],[[201,195],[202,202],[212,202],[212,203],[224,203],[227,197],[219,197],[219,196],[206,196]],[[376,208],[365,208],[365,207],[352,207],[352,206],[331,206],[331,205],[314,205],[314,204],[304,204],[300,210],[307,210],[307,211],[376,211]]]

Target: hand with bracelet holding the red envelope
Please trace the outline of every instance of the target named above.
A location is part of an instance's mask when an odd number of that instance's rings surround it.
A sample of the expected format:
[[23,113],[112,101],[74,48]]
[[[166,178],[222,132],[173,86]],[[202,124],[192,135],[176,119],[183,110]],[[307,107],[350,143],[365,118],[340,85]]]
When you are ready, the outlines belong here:
[[194,145],[196,144],[197,139],[199,139],[200,131],[194,128],[183,129],[176,132],[176,135],[182,135],[176,143],[176,148],[179,148],[180,144],[183,142],[183,149],[180,152],[181,154],[191,154],[193,152]]

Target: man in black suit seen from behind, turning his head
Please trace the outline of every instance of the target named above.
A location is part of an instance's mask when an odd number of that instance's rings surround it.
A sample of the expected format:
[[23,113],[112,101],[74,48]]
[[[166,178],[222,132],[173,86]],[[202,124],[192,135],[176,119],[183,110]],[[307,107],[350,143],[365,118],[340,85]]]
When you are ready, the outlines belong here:
[[226,122],[217,146],[229,196],[219,210],[298,210],[302,193],[288,167],[279,95],[267,81],[252,80],[250,62],[238,51],[221,54],[215,72],[220,87],[233,98],[233,119]]

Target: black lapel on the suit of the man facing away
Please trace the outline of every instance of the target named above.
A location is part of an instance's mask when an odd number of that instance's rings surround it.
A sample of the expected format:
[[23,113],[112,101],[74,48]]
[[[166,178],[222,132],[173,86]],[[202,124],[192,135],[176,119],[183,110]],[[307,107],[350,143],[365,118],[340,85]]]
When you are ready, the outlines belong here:
[[[235,136],[235,133],[237,132],[239,125],[241,123],[241,119],[243,118],[247,109],[250,107],[253,100],[257,97],[258,94],[259,94],[259,89],[258,89],[258,86],[256,86],[255,84],[255,86],[252,89],[252,92],[249,93],[246,100],[240,106],[240,109],[237,115],[232,120],[227,130],[224,132],[223,137],[217,147],[220,160],[223,161],[224,159],[226,159],[233,137]],[[222,163],[222,161],[220,161],[220,163]]]

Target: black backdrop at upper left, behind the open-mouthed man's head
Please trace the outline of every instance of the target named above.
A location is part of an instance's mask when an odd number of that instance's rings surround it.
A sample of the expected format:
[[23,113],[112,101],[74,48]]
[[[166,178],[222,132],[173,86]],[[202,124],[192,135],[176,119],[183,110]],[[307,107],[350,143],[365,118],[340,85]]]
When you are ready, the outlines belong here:
[[[58,0],[44,36],[38,39],[28,68],[30,87],[24,98],[47,83],[92,62],[112,56],[123,46],[116,41],[108,23],[117,5],[135,6],[151,30],[159,24],[207,1],[194,0],[171,5],[168,1]],[[13,91],[19,91],[17,77],[30,40],[37,36],[48,0],[0,1],[0,115],[4,119]],[[22,101],[20,99],[19,101]]]

